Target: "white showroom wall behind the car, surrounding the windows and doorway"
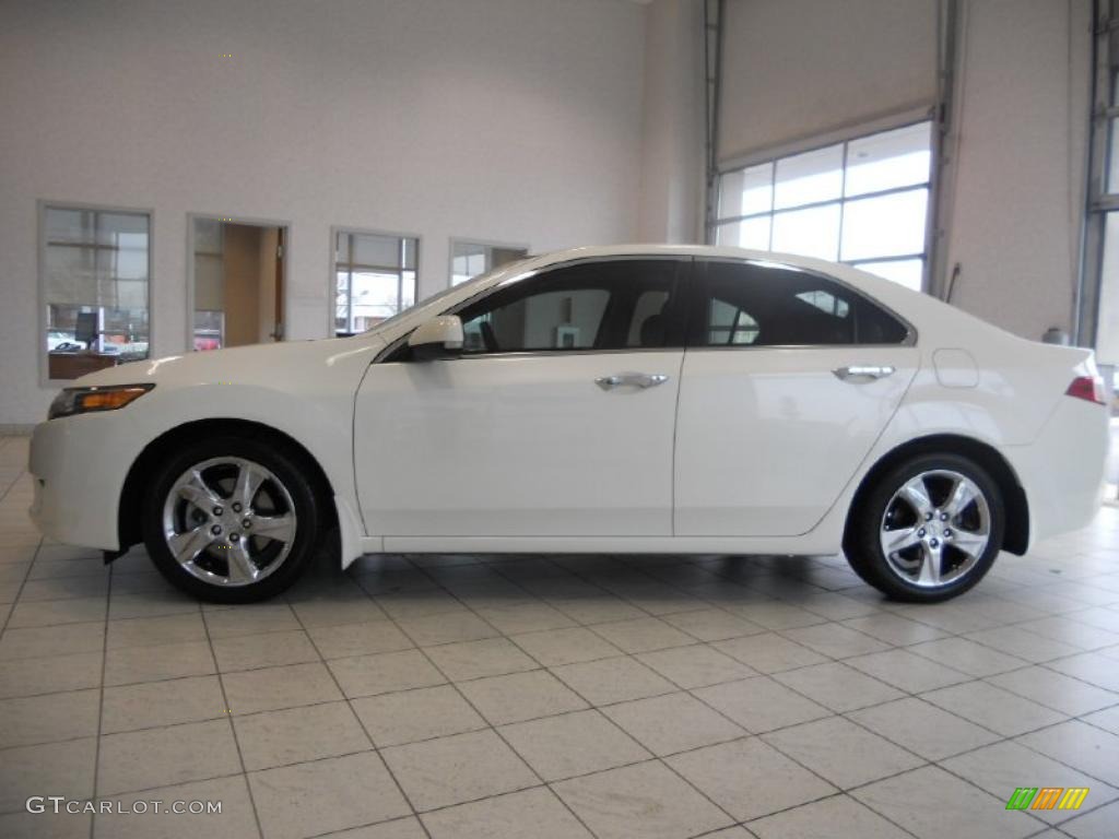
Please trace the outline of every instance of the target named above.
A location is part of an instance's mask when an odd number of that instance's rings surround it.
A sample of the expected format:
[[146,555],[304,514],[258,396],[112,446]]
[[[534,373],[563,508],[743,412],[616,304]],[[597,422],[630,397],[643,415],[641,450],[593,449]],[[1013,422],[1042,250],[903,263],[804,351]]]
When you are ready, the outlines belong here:
[[[1070,327],[1091,0],[961,0],[940,290]],[[931,106],[937,0],[727,0],[724,160]],[[942,7],[942,3],[940,4]],[[154,210],[153,352],[187,346],[187,214],[291,225],[290,338],[326,334],[331,225],[703,238],[703,0],[8,0],[0,427],[39,420],[36,201]],[[232,53],[231,59],[220,56]]]

